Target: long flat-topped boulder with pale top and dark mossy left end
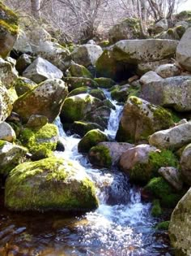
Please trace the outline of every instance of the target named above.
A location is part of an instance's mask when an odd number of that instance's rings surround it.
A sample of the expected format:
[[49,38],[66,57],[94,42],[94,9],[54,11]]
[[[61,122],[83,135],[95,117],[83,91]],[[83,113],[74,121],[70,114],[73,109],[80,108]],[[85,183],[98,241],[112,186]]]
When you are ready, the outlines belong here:
[[146,39],[122,40],[110,46],[96,62],[97,76],[120,80],[140,63],[172,58],[178,42],[172,40]]

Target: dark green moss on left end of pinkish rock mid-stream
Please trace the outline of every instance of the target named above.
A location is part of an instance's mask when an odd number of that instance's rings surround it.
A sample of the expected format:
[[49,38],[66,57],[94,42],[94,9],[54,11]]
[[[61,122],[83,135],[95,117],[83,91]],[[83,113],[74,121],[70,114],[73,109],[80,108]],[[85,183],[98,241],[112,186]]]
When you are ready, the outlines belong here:
[[109,168],[112,166],[112,157],[108,147],[104,145],[93,146],[88,154],[90,163],[98,167]]

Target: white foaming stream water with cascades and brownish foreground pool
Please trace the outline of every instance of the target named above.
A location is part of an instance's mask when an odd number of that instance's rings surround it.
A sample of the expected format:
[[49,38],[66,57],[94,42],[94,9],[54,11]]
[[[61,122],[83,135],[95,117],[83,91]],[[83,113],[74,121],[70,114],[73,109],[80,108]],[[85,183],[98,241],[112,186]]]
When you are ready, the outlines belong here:
[[[114,139],[122,108],[112,103],[117,110],[112,111],[105,132]],[[55,154],[76,161],[87,171],[96,184],[100,206],[74,217],[62,213],[11,213],[1,201],[0,256],[172,255],[168,236],[155,231],[157,219],[151,217],[151,204],[142,202],[140,190],[117,169],[91,167],[87,158],[78,153],[79,138],[67,137],[59,119],[56,124],[66,150]]]

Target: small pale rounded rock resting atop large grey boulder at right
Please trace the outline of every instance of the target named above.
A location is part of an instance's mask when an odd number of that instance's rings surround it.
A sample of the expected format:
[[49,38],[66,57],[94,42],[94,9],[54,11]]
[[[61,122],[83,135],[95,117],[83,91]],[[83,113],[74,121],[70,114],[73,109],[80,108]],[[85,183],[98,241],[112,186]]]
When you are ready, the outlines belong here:
[[177,67],[175,64],[164,64],[155,69],[155,72],[163,77],[168,78],[172,76],[180,76],[180,68]]

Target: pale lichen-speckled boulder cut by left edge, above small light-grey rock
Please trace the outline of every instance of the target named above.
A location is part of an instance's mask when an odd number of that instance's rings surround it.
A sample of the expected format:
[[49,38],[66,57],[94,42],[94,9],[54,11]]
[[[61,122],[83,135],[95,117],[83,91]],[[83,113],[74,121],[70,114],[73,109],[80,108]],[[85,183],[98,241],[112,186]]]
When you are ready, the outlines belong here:
[[0,121],[4,121],[11,115],[12,104],[8,90],[0,82]]

